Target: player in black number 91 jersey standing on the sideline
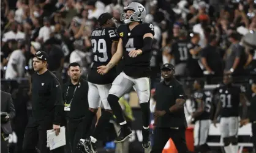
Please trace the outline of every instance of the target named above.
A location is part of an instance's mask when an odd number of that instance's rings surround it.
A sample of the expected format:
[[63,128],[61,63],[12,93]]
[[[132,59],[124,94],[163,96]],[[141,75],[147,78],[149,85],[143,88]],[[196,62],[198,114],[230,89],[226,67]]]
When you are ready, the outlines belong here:
[[221,138],[224,141],[225,152],[238,152],[238,127],[239,127],[239,104],[240,96],[242,96],[243,101],[243,116],[246,116],[247,106],[246,100],[244,99],[244,89],[232,84],[232,76],[225,75],[223,78],[223,83],[220,87],[216,88],[216,93],[219,97],[219,102],[217,104],[216,113],[214,115],[214,126],[216,126],[216,119],[220,112],[220,133]]

